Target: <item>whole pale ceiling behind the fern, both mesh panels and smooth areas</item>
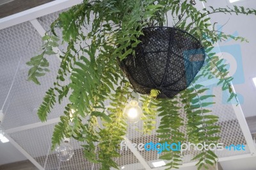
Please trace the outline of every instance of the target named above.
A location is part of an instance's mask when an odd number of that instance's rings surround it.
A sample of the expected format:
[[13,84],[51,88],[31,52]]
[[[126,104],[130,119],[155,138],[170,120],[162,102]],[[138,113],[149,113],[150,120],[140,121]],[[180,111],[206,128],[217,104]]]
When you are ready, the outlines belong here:
[[[227,4],[228,0],[218,2],[216,0],[208,0],[208,3],[205,4],[205,6],[227,6]],[[237,3],[237,5],[256,8],[256,2],[253,0],[241,1],[240,3]],[[39,17],[38,22],[45,30],[48,30],[49,24],[51,24],[51,22],[58,17],[58,13],[60,12]],[[254,58],[256,54],[256,48],[254,47],[256,44],[256,34],[253,29],[256,26],[256,17],[243,15],[230,16],[221,14],[212,15],[211,17],[211,22],[218,22],[220,26],[228,21],[227,24],[222,27],[222,30],[225,33],[236,33],[239,36],[248,38],[250,41],[250,43],[229,41],[226,43],[220,43],[219,45],[223,49],[225,49],[225,47],[239,47],[241,49],[241,55],[237,56],[237,62],[234,62],[234,59],[232,60],[232,58],[228,61],[230,62],[231,66],[237,65],[237,70],[240,69],[240,74],[234,74],[234,86],[237,93],[241,95],[239,99],[241,101],[244,116],[256,116],[256,111],[254,109],[255,107],[253,107],[256,102],[256,88],[252,84],[252,77],[256,77],[256,67],[254,66],[254,63],[256,63],[256,58]],[[60,31],[58,33],[60,34]],[[14,141],[20,144],[20,146],[22,146],[22,148],[27,151],[31,157],[35,158],[35,160],[42,165],[45,163],[45,155],[48,155],[49,146],[51,145],[51,134],[54,123],[45,126],[37,124],[40,120],[38,120],[36,116],[36,109],[42,102],[42,97],[44,97],[45,91],[52,85],[52,82],[56,77],[56,72],[60,61],[58,58],[56,58],[56,56],[51,56],[51,73],[40,79],[40,82],[42,82],[41,86],[36,86],[32,82],[26,81],[29,68],[25,63],[29,60],[29,58],[38,53],[41,45],[42,41],[40,33],[36,31],[31,22],[23,22],[22,24],[0,30],[0,106],[4,104],[4,100],[8,95],[8,90],[10,89],[13,81],[13,76],[18,68],[12,91],[10,92],[8,100],[4,106],[4,113],[6,113],[6,116],[4,118],[3,127],[7,130],[7,132],[10,132],[8,134],[10,137],[12,137],[12,139],[14,139]],[[238,45],[238,47],[232,45]],[[61,46],[60,49],[65,49],[65,45]],[[228,54],[227,56],[223,57],[228,58]],[[239,58],[241,61],[239,61]],[[232,69],[232,67],[230,68]],[[225,143],[243,143],[243,132],[239,126],[232,107],[230,105],[223,104],[221,99],[223,94],[221,94],[220,89],[214,88],[213,93],[216,96],[220,96],[219,98],[215,99],[216,103],[218,103],[217,107],[212,109],[214,110],[214,114],[220,116],[220,124],[223,127],[223,132],[221,134],[223,136],[223,141]],[[63,105],[65,105],[65,102]],[[62,114],[63,105],[56,105],[49,115],[49,120],[54,120]],[[250,123],[252,126],[253,123],[255,123],[256,127],[256,119],[255,122]],[[22,127],[22,129],[20,127]],[[131,139],[132,142],[156,140],[154,136],[156,135],[154,134],[155,132],[153,135],[145,137],[136,132],[134,130],[135,128],[142,128],[141,123],[138,123],[136,127],[129,128],[128,138]],[[38,144],[40,145],[38,146]],[[81,158],[81,153],[79,152],[79,143],[72,141],[72,144],[74,144],[74,147],[77,148],[77,158],[70,160],[72,164],[77,164],[77,167],[74,168],[78,168],[78,164],[91,167],[92,165],[88,162],[83,163],[84,160]],[[140,154],[148,164],[151,164],[150,162],[152,160],[157,159],[156,154]],[[230,157],[234,155],[234,153],[219,154],[220,157]],[[54,157],[54,153],[52,152],[50,155],[51,158],[49,161],[47,161],[47,167],[49,167],[49,169],[56,167],[54,165],[58,164],[58,160],[56,157]],[[122,157],[120,160],[118,160],[120,164],[132,164],[131,169],[143,169],[143,166],[141,167],[141,164],[138,163],[138,158],[134,157],[131,151],[127,152],[127,155],[127,157]],[[190,157],[191,156],[193,155],[190,155]],[[184,162],[189,163],[190,157],[185,158]],[[254,161],[255,159],[253,158],[225,160],[221,162],[221,166],[224,170],[237,168],[239,170],[250,170],[256,167]],[[10,162],[17,162],[24,159],[26,159],[26,157],[17,151],[11,143],[0,143],[0,165]],[[246,162],[246,167],[244,167],[242,162]],[[138,165],[134,166],[133,164]],[[68,167],[68,165],[63,165],[63,169],[68,168],[71,169]],[[188,169],[192,169],[192,167],[189,167]]]

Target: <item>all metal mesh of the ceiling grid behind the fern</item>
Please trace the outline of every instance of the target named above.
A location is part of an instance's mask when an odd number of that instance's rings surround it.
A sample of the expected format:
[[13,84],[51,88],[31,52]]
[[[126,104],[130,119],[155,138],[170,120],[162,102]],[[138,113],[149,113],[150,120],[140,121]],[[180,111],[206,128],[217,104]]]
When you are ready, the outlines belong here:
[[[38,18],[38,21],[44,29],[49,30],[49,26],[58,13],[52,13]],[[58,35],[61,35],[61,31],[56,31]],[[17,26],[8,27],[0,30],[0,105],[3,105],[4,97],[8,93],[8,89],[12,84],[13,75],[15,69],[18,66],[19,59],[21,63],[19,65],[19,72],[15,79],[10,97],[7,104],[4,107],[6,116],[4,118],[3,127],[8,130],[10,128],[16,128],[32,123],[37,123],[36,109],[42,102],[45,91],[52,86],[56,77],[56,71],[60,65],[60,61],[56,56],[49,58],[51,72],[46,76],[40,78],[42,83],[40,86],[28,82],[28,66],[26,62],[35,54],[40,52],[42,40],[35,28],[30,22],[24,22]],[[61,45],[60,49],[65,50],[67,45]],[[214,102],[216,105],[212,107],[214,114],[220,116],[221,125],[221,143],[228,144],[246,144],[246,141],[241,131],[241,127],[236,118],[236,114],[231,105],[222,104],[222,91],[219,88],[214,88],[214,94],[216,95]],[[67,104],[67,99],[62,105],[56,105],[49,114],[49,120],[58,118],[63,113],[63,107]],[[185,118],[184,111],[180,111],[180,116]],[[157,118],[157,125],[159,125],[160,118]],[[130,125],[128,129],[127,137],[132,143],[148,143],[150,141],[157,143],[159,139],[156,137],[156,131],[151,135],[143,135],[140,131],[143,123],[139,122],[135,125]],[[24,150],[26,150],[31,157],[45,169],[99,169],[98,165],[92,164],[83,158],[83,151],[80,144],[77,141],[71,141],[75,148],[74,157],[68,162],[59,162],[54,152],[50,151],[51,136],[54,124],[46,125],[44,127],[31,128],[28,130],[22,130],[20,132],[13,132],[9,134]],[[186,128],[181,127],[180,130],[186,134]],[[234,154],[250,153],[249,150],[232,152],[232,151],[219,151],[217,152],[219,157],[228,157]],[[121,151],[122,157],[117,158],[116,162],[120,166],[128,167],[129,169],[143,169],[143,166],[139,163],[138,159],[132,154],[130,150]],[[156,151],[140,151],[141,156],[148,162],[148,165],[152,167],[152,162],[159,158]],[[196,152],[186,152],[183,160],[184,163],[191,162],[191,158],[195,157]],[[129,166],[127,166],[129,165]]]

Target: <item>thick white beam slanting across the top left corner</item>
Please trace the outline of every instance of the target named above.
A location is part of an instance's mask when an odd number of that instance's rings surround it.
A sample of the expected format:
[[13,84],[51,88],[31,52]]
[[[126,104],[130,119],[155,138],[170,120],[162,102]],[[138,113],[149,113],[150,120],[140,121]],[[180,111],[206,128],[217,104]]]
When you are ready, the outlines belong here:
[[0,29],[33,20],[49,13],[58,12],[60,10],[64,10],[82,2],[83,0],[56,0],[50,3],[42,4],[24,12],[15,13],[13,15],[0,19]]

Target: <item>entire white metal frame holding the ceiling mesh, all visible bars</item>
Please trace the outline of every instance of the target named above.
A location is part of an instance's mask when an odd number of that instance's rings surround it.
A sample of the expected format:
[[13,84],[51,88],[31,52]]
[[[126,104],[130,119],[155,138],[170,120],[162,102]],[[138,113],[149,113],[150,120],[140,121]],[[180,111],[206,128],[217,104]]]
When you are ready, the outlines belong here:
[[[36,20],[36,18],[42,17],[42,16],[47,15],[49,13],[53,13],[53,12],[63,10],[65,8],[69,8],[71,6],[74,6],[76,4],[81,3],[82,1],[83,0],[56,0],[56,1],[52,1],[51,3],[47,3],[47,4],[43,4],[41,6],[37,6],[35,8],[30,9],[30,10],[26,10],[24,12],[20,12],[20,13],[11,15],[9,17],[5,17],[3,19],[0,19],[0,29],[4,29],[6,27],[14,26],[16,24],[20,24],[22,22],[29,21],[35,27],[36,31],[38,31],[38,33],[41,36],[44,36],[45,35],[45,30],[42,27],[42,25],[40,25],[38,20]],[[202,3],[202,7],[204,8],[204,3]],[[58,48],[56,48],[54,50],[56,52],[58,52],[58,54],[56,54],[56,56],[58,56],[58,58],[59,58],[59,56],[62,55],[61,50],[58,49]],[[250,149],[251,154],[220,158],[220,162],[221,161],[227,161],[227,160],[234,160],[234,159],[237,159],[237,158],[252,157],[256,153],[255,144],[253,142],[252,135],[250,134],[250,130],[249,130],[248,125],[246,123],[246,120],[244,118],[244,114],[243,114],[243,111],[241,109],[241,106],[240,105],[237,105],[237,106],[232,105],[232,107],[233,107],[233,109],[236,113],[237,120],[239,121],[239,125],[241,126],[242,132],[244,134],[244,137],[246,139],[246,143],[248,144],[248,148]],[[33,124],[25,125],[25,126],[22,126],[22,127],[8,129],[8,130],[6,130],[6,137],[10,140],[10,143],[12,143],[13,146],[15,146],[15,148],[17,148],[26,158],[28,158],[36,167],[38,167],[38,169],[41,170],[41,169],[44,169],[44,167],[40,166],[40,164],[38,164],[38,162],[36,162],[36,160],[33,157],[31,157],[31,155],[29,155],[19,144],[17,144],[7,134],[12,134],[14,132],[20,132],[22,130],[28,130],[28,129],[36,128],[36,127],[42,127],[42,126],[45,126],[45,125],[50,125],[52,123],[58,123],[59,121],[60,121],[60,119],[56,118],[56,119],[48,120],[45,123],[33,123]],[[125,137],[125,141],[127,143],[127,146],[129,147],[129,149],[132,151],[132,153],[134,153],[136,158],[138,158],[138,160],[140,160],[141,164],[146,169],[151,169],[150,166],[147,164],[147,162],[144,160],[144,158],[141,157],[140,153],[137,150],[134,150],[134,148],[131,145],[131,141],[129,141],[129,139],[127,139],[126,137]],[[189,166],[195,166],[195,163],[192,162],[192,163],[184,164],[181,167],[189,167]],[[161,170],[162,168],[157,168],[157,169]]]

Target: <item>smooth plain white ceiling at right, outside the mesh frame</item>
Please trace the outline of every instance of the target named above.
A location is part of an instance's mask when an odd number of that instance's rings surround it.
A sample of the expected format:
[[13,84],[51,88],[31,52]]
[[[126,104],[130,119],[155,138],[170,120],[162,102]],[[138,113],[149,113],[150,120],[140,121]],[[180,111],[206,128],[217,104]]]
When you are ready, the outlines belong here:
[[[237,6],[244,6],[245,8],[256,8],[256,2],[253,0],[246,0],[234,3]],[[220,6],[225,7],[229,5],[228,0],[225,1],[214,1],[209,0],[205,6]],[[256,77],[256,16],[255,15],[223,15],[223,14],[213,14],[211,15],[211,22],[218,22],[222,27],[224,33],[230,35],[239,35],[245,37],[249,43],[234,42],[229,41],[225,43],[220,43],[221,46],[228,45],[238,45],[241,48],[241,55],[237,55],[237,58],[241,58],[241,63],[237,59],[237,63],[234,63],[230,59],[231,67],[232,65],[237,65],[237,70],[242,70],[241,74],[234,74],[234,86],[236,92],[239,94],[239,100],[241,102],[241,107],[244,112],[244,116],[256,116],[255,103],[256,103],[256,88],[253,85],[252,78]],[[226,24],[227,23],[227,24]],[[236,46],[234,46],[236,47]],[[236,58],[236,57],[235,57]]]

